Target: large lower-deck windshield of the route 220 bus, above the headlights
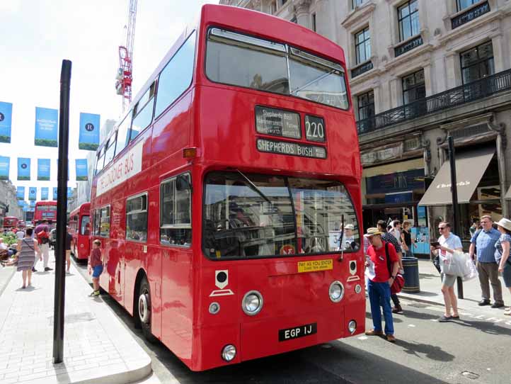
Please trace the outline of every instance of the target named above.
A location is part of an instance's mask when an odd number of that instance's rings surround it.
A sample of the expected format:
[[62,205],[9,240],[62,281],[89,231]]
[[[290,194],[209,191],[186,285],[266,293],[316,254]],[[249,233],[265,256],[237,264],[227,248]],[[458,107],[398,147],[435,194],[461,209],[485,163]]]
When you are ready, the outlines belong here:
[[205,181],[203,218],[203,247],[212,259],[360,247],[355,208],[338,181],[212,172]]

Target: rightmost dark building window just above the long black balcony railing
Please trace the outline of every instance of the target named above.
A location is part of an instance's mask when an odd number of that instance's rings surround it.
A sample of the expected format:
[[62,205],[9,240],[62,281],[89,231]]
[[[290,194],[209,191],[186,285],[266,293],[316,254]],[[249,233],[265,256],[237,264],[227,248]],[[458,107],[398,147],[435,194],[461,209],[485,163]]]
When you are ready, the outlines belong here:
[[461,59],[463,84],[495,74],[495,62],[493,60],[493,46],[491,45],[491,41],[473,47],[465,52],[461,52],[459,55]]

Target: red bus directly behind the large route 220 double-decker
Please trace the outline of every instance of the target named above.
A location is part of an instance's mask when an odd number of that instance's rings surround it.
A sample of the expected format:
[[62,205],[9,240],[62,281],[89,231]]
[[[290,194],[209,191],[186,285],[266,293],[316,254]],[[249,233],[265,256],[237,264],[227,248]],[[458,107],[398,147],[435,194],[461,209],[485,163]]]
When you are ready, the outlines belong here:
[[73,235],[74,248],[71,249],[76,259],[87,259],[91,252],[91,203],[83,203],[69,213],[69,233]]

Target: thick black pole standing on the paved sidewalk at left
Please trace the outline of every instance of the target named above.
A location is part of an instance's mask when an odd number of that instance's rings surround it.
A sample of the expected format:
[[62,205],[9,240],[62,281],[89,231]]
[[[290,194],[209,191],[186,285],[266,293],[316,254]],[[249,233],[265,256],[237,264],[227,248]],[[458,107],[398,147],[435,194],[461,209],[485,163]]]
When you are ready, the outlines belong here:
[[66,213],[67,168],[69,147],[69,86],[71,62],[62,60],[60,71],[59,165],[57,188],[57,242],[55,244],[55,298],[53,315],[53,363],[62,363],[64,357],[64,299],[66,275]]

